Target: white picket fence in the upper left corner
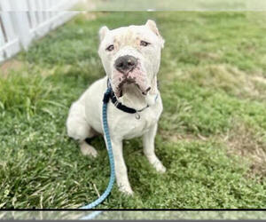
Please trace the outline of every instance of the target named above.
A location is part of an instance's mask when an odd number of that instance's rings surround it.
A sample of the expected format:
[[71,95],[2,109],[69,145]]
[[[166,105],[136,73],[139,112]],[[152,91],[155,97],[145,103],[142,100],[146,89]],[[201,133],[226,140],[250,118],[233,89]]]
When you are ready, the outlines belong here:
[[0,0],[0,62],[71,19],[79,0]]

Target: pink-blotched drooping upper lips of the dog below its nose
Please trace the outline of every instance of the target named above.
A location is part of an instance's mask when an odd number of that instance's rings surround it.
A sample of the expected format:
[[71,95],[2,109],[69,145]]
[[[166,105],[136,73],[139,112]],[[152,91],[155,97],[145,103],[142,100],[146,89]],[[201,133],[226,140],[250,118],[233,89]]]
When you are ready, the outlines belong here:
[[128,73],[122,74],[116,69],[113,70],[113,92],[116,97],[120,98],[122,96],[122,86],[125,83],[134,83],[137,88],[142,92],[143,95],[146,95],[150,91],[151,87],[147,83],[147,77],[144,70],[137,64],[133,70],[129,70]]

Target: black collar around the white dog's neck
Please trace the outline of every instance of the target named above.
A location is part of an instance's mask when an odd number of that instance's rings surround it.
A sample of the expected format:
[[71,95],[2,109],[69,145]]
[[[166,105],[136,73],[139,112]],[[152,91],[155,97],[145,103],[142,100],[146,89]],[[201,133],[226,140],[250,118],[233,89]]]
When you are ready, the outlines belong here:
[[113,102],[113,105],[123,112],[129,113],[129,114],[136,114],[138,112],[145,110],[145,108],[149,107],[149,105],[147,105],[146,107],[144,107],[140,110],[137,110],[135,108],[131,108],[131,107],[127,107],[125,105],[122,105],[121,102],[118,101],[118,99],[116,98],[109,79],[107,80],[107,87],[111,90],[109,91],[109,93],[107,95],[105,95],[104,101],[108,102],[109,99],[111,99],[111,101]]

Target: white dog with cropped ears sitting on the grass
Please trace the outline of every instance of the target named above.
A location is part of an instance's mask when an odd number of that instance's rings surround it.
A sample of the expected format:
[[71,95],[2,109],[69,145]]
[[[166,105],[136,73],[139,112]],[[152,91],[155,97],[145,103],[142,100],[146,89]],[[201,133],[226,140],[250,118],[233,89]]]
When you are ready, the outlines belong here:
[[98,54],[106,77],[90,85],[73,103],[66,121],[67,134],[77,139],[83,155],[97,151],[85,142],[104,134],[102,126],[103,96],[107,85],[113,93],[108,104],[108,124],[113,146],[115,176],[120,190],[133,194],[122,155],[122,140],[143,137],[144,153],[153,167],[166,169],[154,153],[154,138],[162,112],[157,73],[164,40],[153,20],[143,26],[99,30]]

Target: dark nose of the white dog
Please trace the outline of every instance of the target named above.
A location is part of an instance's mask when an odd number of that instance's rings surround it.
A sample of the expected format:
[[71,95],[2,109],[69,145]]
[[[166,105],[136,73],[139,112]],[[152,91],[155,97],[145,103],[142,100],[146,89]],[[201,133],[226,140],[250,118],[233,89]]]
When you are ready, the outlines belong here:
[[137,66],[137,59],[134,56],[121,56],[114,62],[114,67],[123,74],[132,71]]

